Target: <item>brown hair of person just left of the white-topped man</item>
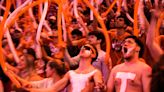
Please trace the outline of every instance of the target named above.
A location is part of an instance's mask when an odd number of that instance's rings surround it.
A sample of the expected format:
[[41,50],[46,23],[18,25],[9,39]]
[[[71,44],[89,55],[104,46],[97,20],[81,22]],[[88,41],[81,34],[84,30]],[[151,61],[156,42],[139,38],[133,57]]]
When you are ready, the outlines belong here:
[[[59,63],[60,62],[60,63]],[[66,67],[65,64],[62,61],[57,61],[57,60],[52,60],[48,63],[48,66],[51,69],[55,69],[57,74],[59,74],[60,76],[64,75],[66,73]]]

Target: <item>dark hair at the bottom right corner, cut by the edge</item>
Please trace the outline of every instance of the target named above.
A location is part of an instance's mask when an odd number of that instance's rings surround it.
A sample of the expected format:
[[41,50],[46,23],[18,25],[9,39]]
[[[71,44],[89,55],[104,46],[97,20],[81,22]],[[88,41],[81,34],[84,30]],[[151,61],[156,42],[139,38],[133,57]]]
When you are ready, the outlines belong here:
[[150,92],[164,92],[164,54],[161,55],[158,62],[152,69],[151,91]]

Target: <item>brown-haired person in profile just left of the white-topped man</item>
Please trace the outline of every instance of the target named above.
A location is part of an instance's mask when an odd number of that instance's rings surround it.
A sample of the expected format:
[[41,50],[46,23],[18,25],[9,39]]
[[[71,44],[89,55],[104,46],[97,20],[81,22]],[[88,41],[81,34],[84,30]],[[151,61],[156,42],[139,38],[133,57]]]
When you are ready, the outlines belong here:
[[[46,66],[46,78],[39,81],[20,81],[25,88],[51,88],[53,84],[62,79],[67,72],[66,69],[67,68],[61,60],[51,60]],[[62,92],[64,92],[64,90]]]

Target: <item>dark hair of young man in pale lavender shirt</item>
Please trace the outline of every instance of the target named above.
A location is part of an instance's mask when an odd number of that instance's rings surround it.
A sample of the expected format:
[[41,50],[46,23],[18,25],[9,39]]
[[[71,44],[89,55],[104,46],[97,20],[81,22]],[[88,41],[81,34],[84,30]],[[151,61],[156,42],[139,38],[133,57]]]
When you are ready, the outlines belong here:
[[89,35],[89,36],[90,36],[90,35],[96,36],[96,37],[97,37],[97,40],[101,40],[101,44],[103,44],[103,43],[105,42],[104,34],[103,34],[102,32],[100,32],[100,31],[97,31],[97,30],[91,31],[91,32],[89,32],[88,35]]

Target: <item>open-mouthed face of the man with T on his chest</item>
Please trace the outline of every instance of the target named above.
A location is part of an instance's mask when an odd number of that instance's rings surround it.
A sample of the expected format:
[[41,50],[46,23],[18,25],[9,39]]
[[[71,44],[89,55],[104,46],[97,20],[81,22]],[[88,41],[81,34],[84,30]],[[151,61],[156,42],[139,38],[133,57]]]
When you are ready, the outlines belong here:
[[122,46],[122,53],[125,59],[132,58],[137,51],[138,45],[132,38],[125,39]]

